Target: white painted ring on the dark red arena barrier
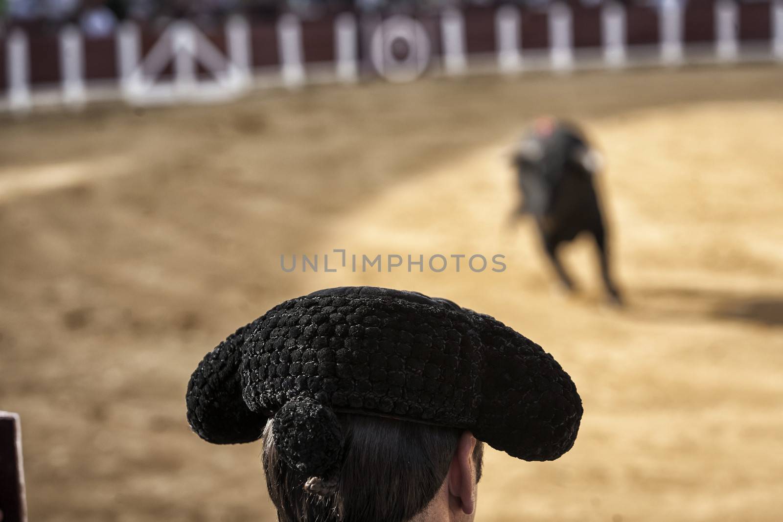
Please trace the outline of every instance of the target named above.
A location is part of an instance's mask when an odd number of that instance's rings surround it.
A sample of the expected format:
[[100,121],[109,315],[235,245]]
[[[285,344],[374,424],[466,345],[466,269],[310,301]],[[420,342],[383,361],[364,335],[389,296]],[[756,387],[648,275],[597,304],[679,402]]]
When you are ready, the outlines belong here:
[[391,16],[373,31],[370,59],[388,81],[412,81],[427,70],[431,42],[424,26],[408,16]]

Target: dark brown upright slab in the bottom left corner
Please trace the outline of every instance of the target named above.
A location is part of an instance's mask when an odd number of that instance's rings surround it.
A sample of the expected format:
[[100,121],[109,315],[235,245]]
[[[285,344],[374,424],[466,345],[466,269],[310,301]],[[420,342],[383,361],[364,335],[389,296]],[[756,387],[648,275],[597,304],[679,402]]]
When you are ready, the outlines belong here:
[[0,411],[0,521],[26,522],[19,415]]

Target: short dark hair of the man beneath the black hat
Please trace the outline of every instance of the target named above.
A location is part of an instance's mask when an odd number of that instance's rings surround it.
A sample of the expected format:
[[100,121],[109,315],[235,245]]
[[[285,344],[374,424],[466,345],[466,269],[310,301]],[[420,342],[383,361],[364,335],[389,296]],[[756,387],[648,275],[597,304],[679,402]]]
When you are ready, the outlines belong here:
[[[339,475],[328,481],[290,467],[277,450],[272,419],[266,423],[262,463],[279,522],[405,522],[428,506],[446,479],[461,430],[347,413],[337,418],[345,455]],[[477,480],[482,455],[478,442]]]

